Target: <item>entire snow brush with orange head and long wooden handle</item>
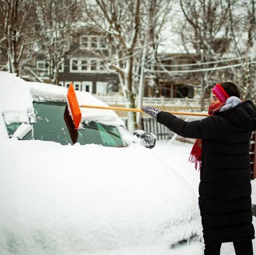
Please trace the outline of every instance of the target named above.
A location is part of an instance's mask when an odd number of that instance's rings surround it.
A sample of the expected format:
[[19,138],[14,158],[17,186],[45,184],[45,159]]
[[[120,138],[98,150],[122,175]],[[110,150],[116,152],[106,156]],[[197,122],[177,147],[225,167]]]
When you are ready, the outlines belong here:
[[[69,111],[71,112],[71,117],[74,122],[75,129],[78,129],[78,126],[80,124],[80,121],[82,119],[82,114],[80,107],[84,108],[92,108],[92,109],[103,109],[103,110],[113,110],[113,111],[126,111],[126,112],[141,112],[143,113],[142,109],[136,109],[136,108],[125,108],[125,107],[113,107],[113,106],[100,106],[100,105],[87,105],[87,104],[78,104],[73,84],[70,83],[68,93],[68,105],[69,105]],[[166,111],[169,113],[172,113],[174,115],[188,115],[188,116],[203,116],[208,117],[209,115],[206,113],[190,113],[190,112],[172,112],[172,111]]]

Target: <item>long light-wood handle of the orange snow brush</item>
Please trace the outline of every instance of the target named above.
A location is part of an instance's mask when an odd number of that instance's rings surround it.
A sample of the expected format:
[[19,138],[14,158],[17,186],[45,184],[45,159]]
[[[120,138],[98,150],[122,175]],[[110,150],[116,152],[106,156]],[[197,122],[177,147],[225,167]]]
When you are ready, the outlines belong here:
[[[136,109],[136,108],[124,108],[124,107],[114,107],[114,106],[99,106],[99,105],[88,105],[88,104],[82,104],[79,105],[83,108],[92,108],[92,109],[103,109],[103,110],[113,110],[113,111],[126,111],[126,112],[140,112],[143,113],[142,109]],[[188,115],[188,116],[204,116],[208,117],[209,115],[207,113],[190,113],[190,112],[171,112],[171,111],[165,111],[172,113],[174,115]]]

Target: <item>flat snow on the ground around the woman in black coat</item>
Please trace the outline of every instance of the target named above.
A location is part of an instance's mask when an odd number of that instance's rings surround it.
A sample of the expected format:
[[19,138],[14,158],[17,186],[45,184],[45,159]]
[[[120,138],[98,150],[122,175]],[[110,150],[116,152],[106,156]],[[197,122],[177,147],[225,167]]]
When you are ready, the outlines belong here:
[[[152,149],[165,163],[181,174],[193,187],[198,196],[198,185],[200,182],[200,172],[195,170],[194,164],[188,161],[193,144],[174,140],[171,144],[166,140],[158,140]],[[256,204],[256,179],[252,180],[252,203]],[[256,229],[256,217],[253,217],[253,224]],[[256,254],[256,239],[253,240],[254,254]],[[191,250],[189,254],[194,255]],[[223,243],[221,255],[235,255],[233,243]],[[184,253],[185,255],[185,253]]]

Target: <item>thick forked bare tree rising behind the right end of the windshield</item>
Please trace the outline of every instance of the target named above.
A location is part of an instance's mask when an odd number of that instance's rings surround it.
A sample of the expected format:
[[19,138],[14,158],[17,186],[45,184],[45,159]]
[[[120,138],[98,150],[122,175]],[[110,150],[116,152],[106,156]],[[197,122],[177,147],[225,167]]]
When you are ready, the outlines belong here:
[[[97,54],[108,64],[109,71],[118,73],[128,108],[135,108],[133,83],[134,56],[142,49],[136,45],[142,18],[141,0],[85,1],[89,23],[95,31],[107,36],[108,54]],[[136,130],[136,115],[128,112],[128,130]]]

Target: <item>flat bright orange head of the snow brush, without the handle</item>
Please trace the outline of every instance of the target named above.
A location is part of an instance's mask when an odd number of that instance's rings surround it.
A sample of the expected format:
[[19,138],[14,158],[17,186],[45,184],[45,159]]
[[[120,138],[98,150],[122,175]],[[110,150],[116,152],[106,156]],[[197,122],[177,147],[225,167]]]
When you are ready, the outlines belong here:
[[74,122],[74,127],[77,130],[80,124],[80,121],[82,119],[82,114],[81,114],[81,110],[80,110],[72,83],[70,83],[69,85],[67,98],[68,98],[69,111]]

